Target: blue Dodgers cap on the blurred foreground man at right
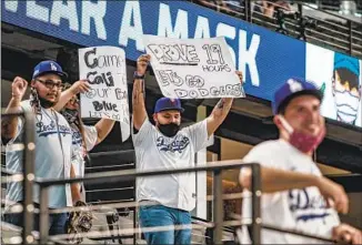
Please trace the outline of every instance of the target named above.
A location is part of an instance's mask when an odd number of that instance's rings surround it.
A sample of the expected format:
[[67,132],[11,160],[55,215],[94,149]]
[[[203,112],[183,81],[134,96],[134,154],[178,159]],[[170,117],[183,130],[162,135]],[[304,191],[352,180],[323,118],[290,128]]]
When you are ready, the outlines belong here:
[[289,79],[276,92],[272,101],[274,115],[285,108],[288,103],[299,95],[311,94],[316,96],[320,101],[323,99],[322,92],[312,83],[304,79],[292,78]]

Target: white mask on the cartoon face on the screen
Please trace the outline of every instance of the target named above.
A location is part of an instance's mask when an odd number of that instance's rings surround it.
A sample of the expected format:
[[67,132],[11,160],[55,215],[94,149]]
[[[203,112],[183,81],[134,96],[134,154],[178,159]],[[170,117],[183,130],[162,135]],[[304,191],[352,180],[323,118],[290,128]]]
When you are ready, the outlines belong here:
[[338,118],[342,122],[353,123],[360,106],[360,99],[349,91],[340,92],[334,90],[334,101],[336,106]]

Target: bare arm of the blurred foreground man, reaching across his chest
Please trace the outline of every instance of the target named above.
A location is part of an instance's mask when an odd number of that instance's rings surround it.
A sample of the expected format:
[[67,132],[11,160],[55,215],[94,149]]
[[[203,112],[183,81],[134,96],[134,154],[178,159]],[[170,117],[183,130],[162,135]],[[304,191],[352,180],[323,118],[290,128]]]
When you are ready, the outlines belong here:
[[[251,188],[251,170],[242,170],[240,184],[244,188]],[[263,193],[283,192],[309,186],[318,187],[328,202],[332,200],[333,203],[329,204],[333,205],[336,211],[344,214],[348,213],[349,198],[341,185],[323,176],[261,166],[261,187]]]

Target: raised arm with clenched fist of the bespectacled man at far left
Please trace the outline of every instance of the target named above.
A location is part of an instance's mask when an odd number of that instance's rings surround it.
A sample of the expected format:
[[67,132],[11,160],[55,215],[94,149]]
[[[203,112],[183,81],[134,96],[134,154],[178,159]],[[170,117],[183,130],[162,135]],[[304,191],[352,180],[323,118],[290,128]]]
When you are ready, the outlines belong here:
[[[11,84],[11,100],[6,113],[16,113],[21,111],[20,102],[27,91],[28,82],[17,76]],[[1,137],[9,141],[17,135],[18,116],[2,116],[1,119]]]

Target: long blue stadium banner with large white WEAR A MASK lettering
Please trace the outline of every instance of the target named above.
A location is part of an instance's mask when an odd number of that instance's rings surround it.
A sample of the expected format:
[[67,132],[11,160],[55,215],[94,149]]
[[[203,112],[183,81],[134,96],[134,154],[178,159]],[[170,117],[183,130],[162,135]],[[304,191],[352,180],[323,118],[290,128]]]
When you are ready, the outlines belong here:
[[[237,70],[244,74],[245,93],[269,101],[286,79],[312,79],[315,73],[306,69],[313,61],[306,59],[311,54],[305,42],[188,1],[11,0],[1,1],[1,14],[3,22],[80,45],[121,47],[130,60],[144,53],[143,34],[224,37]],[[355,99],[349,101],[354,103]],[[352,109],[355,111],[355,106]],[[361,120],[353,123],[361,125]]]

